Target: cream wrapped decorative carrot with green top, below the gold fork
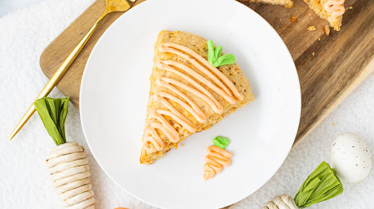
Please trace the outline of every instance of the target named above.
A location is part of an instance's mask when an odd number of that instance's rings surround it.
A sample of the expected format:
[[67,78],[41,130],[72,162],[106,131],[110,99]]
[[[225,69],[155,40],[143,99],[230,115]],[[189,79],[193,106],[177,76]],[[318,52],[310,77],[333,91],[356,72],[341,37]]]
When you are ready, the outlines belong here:
[[95,199],[84,148],[75,142],[66,142],[65,119],[69,97],[42,98],[34,105],[57,145],[47,155],[47,167],[61,205],[66,209],[94,209]]

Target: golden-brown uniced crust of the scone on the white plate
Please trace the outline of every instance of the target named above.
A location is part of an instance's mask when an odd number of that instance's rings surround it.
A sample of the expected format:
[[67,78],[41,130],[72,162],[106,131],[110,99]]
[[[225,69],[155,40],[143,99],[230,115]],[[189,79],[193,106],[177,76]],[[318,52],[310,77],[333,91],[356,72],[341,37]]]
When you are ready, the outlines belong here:
[[[187,62],[186,60],[182,59],[181,57],[171,54],[171,53],[161,53],[157,50],[157,46],[161,43],[176,43],[180,44],[182,46],[186,46],[193,51],[195,51],[197,54],[201,55],[203,58],[207,59],[208,56],[208,48],[206,44],[206,40],[203,39],[200,36],[187,33],[187,32],[181,32],[181,31],[167,31],[163,30],[159,33],[159,36],[157,38],[157,41],[155,43],[155,57],[153,60],[153,69],[152,74],[150,77],[151,81],[151,87],[150,87],[150,93],[149,93],[149,101],[147,106],[147,119],[150,118],[150,111],[155,108],[161,108],[161,109],[167,109],[163,104],[157,103],[153,100],[153,94],[157,91],[163,91],[167,92],[173,96],[176,96],[180,98],[175,93],[171,92],[170,90],[166,88],[162,88],[160,86],[156,85],[156,79],[160,76],[163,77],[169,77],[176,79],[178,81],[184,82],[185,84],[188,84],[187,81],[180,78],[179,76],[168,73],[165,70],[160,70],[156,67],[156,62],[159,60],[176,60],[178,62],[181,62],[185,65],[187,65],[189,68],[195,70],[196,72],[199,72],[196,70],[191,63]],[[206,88],[217,100],[220,102],[223,106],[223,112],[221,114],[215,113],[208,104],[206,104],[204,101],[202,101],[200,98],[197,98],[196,96],[181,90],[183,93],[185,93],[193,102],[195,102],[201,110],[206,114],[207,120],[204,123],[198,122],[185,108],[180,106],[179,104],[170,101],[170,103],[177,108],[178,111],[180,111],[183,115],[185,115],[196,127],[196,132],[203,131],[208,129],[210,126],[214,125],[221,119],[223,119],[226,115],[230,114],[231,112],[235,111],[237,108],[244,106],[245,104],[248,104],[254,100],[254,96],[251,92],[251,88],[249,85],[248,80],[243,75],[243,72],[240,70],[239,66],[235,63],[232,65],[224,65],[218,67],[218,69],[229,79],[233,82],[236,89],[244,95],[244,100],[239,101],[236,100],[235,104],[229,104],[225,100],[223,100],[220,96],[218,96],[215,92],[208,89],[204,84],[202,86]],[[199,72],[200,73],[200,72]],[[201,74],[201,73],[200,73]],[[205,75],[201,74],[206,79],[210,80]],[[192,78],[192,77],[191,77]],[[192,78],[193,79],[193,78]],[[197,81],[197,80],[195,80]],[[198,82],[198,81],[197,81]],[[201,84],[201,83],[200,83]],[[183,100],[182,98],[180,98]],[[169,121],[170,124],[173,124],[173,126],[178,130],[180,133],[180,141],[185,140],[185,138],[192,133],[189,132],[185,127],[182,127],[181,124],[176,122],[174,119],[172,119],[169,116],[165,116],[165,118]],[[171,142],[165,134],[157,129],[157,133],[160,135],[160,137],[164,140],[165,146],[164,149],[161,151],[157,151],[154,153],[147,153],[146,150],[141,150],[140,154],[140,163],[142,164],[152,164],[155,162],[155,160],[162,158],[167,151],[169,151],[171,148],[177,148],[178,143]],[[144,135],[143,135],[144,137]]]

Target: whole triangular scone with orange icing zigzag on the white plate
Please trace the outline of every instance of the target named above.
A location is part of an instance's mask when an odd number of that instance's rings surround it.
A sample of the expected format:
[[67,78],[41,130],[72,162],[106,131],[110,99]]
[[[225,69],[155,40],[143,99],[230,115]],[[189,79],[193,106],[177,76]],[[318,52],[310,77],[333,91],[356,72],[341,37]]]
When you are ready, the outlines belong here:
[[[214,68],[206,61],[207,56],[206,40],[200,36],[181,31],[159,33],[140,163],[154,163],[193,132],[208,129],[254,100],[236,63]],[[198,65],[203,69],[198,70]],[[211,75],[202,73],[204,69]]]

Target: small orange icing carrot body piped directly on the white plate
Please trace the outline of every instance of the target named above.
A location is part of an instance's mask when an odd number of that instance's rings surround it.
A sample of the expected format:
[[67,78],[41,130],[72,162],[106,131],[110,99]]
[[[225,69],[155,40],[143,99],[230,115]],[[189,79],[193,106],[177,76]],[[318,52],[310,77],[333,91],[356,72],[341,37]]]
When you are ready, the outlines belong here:
[[221,149],[215,145],[211,145],[207,149],[208,155],[205,156],[205,165],[203,167],[204,180],[211,179],[215,174],[220,173],[223,166],[229,166],[231,164],[230,158],[232,153],[224,149]]

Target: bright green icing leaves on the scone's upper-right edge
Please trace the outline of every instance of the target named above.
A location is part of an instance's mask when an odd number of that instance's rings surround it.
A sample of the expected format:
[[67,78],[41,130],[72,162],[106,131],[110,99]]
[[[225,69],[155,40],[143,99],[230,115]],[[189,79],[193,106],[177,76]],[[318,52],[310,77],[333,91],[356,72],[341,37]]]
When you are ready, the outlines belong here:
[[221,56],[222,46],[214,47],[212,40],[208,40],[206,43],[208,44],[208,62],[214,67],[231,65],[235,63],[234,55],[225,54]]

